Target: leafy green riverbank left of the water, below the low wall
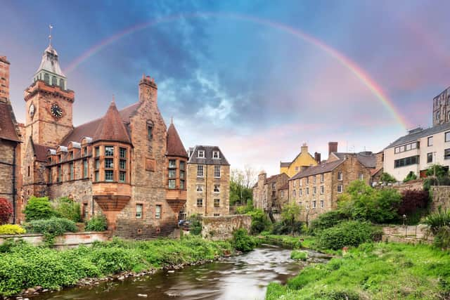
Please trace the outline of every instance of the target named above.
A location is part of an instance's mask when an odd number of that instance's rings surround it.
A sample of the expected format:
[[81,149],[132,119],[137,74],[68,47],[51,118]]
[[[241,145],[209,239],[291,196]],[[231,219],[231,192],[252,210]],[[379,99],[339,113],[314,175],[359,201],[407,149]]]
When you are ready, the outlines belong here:
[[186,236],[181,240],[113,239],[62,251],[16,242],[4,244],[0,252],[0,296],[12,296],[27,289],[35,292],[35,287],[55,290],[114,279],[117,274],[125,278],[160,268],[181,268],[229,256],[236,250],[228,241]]

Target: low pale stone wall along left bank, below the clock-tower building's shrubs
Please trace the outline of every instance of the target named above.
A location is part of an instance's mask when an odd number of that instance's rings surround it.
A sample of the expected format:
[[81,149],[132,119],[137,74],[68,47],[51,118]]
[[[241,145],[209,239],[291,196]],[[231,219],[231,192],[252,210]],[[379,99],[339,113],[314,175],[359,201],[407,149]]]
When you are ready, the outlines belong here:
[[[0,245],[8,239],[24,240],[34,246],[41,244],[44,235],[25,234],[25,235],[0,235]],[[56,237],[54,247],[58,249],[77,247],[80,244],[90,245],[94,242],[105,242],[109,239],[107,232],[86,232],[86,233],[66,233]]]

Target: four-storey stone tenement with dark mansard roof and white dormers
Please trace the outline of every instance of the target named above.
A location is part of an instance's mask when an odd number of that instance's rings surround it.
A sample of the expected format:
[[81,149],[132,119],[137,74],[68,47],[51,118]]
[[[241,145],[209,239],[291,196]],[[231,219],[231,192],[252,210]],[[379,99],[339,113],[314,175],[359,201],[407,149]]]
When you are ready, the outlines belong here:
[[230,164],[217,146],[189,149],[187,216],[225,216],[230,210]]

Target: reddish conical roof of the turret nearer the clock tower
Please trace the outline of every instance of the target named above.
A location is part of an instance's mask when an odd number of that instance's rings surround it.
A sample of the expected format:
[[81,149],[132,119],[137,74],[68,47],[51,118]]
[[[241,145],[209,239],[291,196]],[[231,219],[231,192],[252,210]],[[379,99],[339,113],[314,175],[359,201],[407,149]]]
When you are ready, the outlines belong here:
[[111,102],[105,117],[98,124],[96,133],[94,134],[94,142],[96,141],[114,141],[131,144],[127,129],[125,129],[114,101]]

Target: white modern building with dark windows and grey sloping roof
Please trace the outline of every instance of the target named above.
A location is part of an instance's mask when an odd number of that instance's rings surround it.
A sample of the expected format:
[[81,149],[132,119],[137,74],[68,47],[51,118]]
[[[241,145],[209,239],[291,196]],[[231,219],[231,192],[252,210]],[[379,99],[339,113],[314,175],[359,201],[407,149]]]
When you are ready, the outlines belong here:
[[423,177],[432,164],[450,166],[450,123],[413,129],[384,150],[384,171],[398,181],[410,171]]

